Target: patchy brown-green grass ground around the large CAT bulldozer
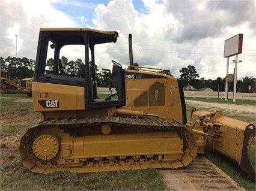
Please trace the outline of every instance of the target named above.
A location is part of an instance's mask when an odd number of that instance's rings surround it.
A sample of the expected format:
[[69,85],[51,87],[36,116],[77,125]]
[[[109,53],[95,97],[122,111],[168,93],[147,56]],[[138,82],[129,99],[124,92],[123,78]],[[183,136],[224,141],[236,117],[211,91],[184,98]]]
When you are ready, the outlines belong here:
[[[40,121],[32,98],[26,95],[1,95],[1,190],[167,190],[157,169],[139,171],[75,174],[56,172],[36,174],[20,163],[19,139],[29,126]],[[192,105],[187,105],[187,116]],[[198,108],[200,109],[200,108]],[[253,116],[252,116],[253,118]],[[255,190],[255,182],[221,155],[206,152],[206,157],[246,190]],[[254,158],[255,161],[255,158]]]

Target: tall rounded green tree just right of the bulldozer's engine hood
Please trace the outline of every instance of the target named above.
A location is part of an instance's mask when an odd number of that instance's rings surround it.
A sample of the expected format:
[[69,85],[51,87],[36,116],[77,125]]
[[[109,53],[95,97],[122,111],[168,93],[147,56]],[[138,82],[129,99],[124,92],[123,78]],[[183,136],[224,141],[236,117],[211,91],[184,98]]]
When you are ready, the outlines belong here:
[[187,68],[181,68],[180,72],[180,80],[183,82],[183,86],[186,86],[187,84],[194,86],[195,79],[199,78],[197,70],[193,65],[188,65]]

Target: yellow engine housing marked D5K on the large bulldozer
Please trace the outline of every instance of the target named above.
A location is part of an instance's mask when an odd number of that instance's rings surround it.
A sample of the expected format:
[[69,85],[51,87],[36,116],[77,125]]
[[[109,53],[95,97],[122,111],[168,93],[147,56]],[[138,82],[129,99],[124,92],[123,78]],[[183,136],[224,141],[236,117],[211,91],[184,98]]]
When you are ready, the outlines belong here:
[[[148,71],[126,70],[126,74],[148,74]],[[129,74],[127,74],[129,75]],[[162,78],[126,80],[126,107],[144,113],[157,114],[162,119],[182,123],[180,89],[177,78],[159,74]]]

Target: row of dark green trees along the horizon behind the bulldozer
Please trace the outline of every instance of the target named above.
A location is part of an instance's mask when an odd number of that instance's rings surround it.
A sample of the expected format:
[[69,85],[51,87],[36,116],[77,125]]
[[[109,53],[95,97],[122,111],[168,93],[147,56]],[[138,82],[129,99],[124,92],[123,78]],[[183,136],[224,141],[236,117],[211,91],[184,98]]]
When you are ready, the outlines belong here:
[[[68,60],[66,57],[62,56],[62,59],[66,63],[67,71],[85,77],[85,64],[81,59],[76,61]],[[6,59],[0,57],[1,69],[7,71],[7,75],[10,77],[17,77],[19,80],[23,78],[28,78],[33,76],[33,70],[35,66],[35,60],[28,59],[26,57],[10,57]],[[53,67],[53,59],[48,59],[46,65],[49,70]],[[138,63],[135,63],[138,66]],[[164,74],[172,75],[169,69],[163,69]],[[203,87],[209,87],[213,91],[223,92],[225,91],[225,77],[218,77],[215,80],[206,80],[204,77],[200,78],[194,65],[188,65],[186,68],[180,69],[180,80],[183,83],[183,87],[190,86],[195,87],[195,89],[201,89]],[[108,87],[111,84],[112,74],[111,70],[107,68],[99,69],[96,65],[96,78],[97,86]],[[254,92],[256,89],[256,79],[255,77],[245,76],[242,80],[237,80],[237,92]],[[248,87],[251,87],[249,90]],[[228,91],[233,91],[233,83],[228,83]]]

